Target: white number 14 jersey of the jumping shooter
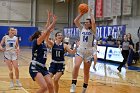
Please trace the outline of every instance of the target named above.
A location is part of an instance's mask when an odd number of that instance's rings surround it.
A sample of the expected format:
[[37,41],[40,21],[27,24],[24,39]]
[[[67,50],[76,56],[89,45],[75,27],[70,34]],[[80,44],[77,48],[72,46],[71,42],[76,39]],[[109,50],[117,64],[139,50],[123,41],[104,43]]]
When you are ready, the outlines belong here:
[[80,34],[80,47],[92,47],[93,35],[91,30],[86,30],[83,27]]

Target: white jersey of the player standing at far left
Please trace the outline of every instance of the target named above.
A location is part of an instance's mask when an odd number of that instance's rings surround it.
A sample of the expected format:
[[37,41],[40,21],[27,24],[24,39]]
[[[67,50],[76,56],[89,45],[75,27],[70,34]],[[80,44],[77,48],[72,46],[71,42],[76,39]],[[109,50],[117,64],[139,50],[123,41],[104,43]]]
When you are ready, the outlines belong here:
[[6,51],[8,50],[15,50],[16,49],[16,41],[17,41],[17,37],[9,37],[8,35],[4,36],[5,38],[5,49]]

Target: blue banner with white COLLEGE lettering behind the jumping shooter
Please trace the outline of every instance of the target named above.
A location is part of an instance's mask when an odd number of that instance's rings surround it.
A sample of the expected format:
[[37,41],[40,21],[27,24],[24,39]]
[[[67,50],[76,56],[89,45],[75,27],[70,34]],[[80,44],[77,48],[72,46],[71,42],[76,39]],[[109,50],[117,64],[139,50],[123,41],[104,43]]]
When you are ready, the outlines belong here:
[[[122,37],[125,34],[125,25],[114,25],[114,26],[97,26],[96,27],[96,38],[107,38],[112,35],[114,39]],[[76,27],[64,28],[64,36],[69,36],[70,38],[77,38],[80,35],[80,31]]]

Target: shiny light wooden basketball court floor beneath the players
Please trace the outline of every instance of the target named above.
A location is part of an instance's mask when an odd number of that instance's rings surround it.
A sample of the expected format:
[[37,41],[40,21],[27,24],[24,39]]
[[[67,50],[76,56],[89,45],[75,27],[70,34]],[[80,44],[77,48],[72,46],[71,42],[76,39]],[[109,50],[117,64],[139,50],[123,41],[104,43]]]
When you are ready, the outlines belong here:
[[[70,93],[74,58],[66,57],[66,69],[60,80],[59,93]],[[47,67],[51,60],[48,53]],[[3,53],[0,52],[0,93],[35,93],[39,86],[29,75],[31,49],[21,49],[19,56],[20,81],[23,87],[9,87],[9,71],[3,62]],[[140,63],[138,63],[139,65]],[[123,68],[121,73],[116,70],[117,65],[109,62],[98,62],[97,71],[90,69],[89,87],[86,93],[140,93],[140,65]],[[81,93],[83,85],[83,66],[78,76],[76,93]],[[136,69],[135,69],[136,68]],[[14,77],[15,78],[15,77]]]

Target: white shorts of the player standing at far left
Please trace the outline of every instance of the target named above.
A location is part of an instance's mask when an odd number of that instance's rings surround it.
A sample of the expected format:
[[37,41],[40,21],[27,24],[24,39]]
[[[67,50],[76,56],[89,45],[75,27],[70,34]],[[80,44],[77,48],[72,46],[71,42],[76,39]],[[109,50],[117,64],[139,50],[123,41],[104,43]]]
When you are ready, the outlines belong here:
[[17,53],[15,51],[5,51],[4,60],[17,60]]

